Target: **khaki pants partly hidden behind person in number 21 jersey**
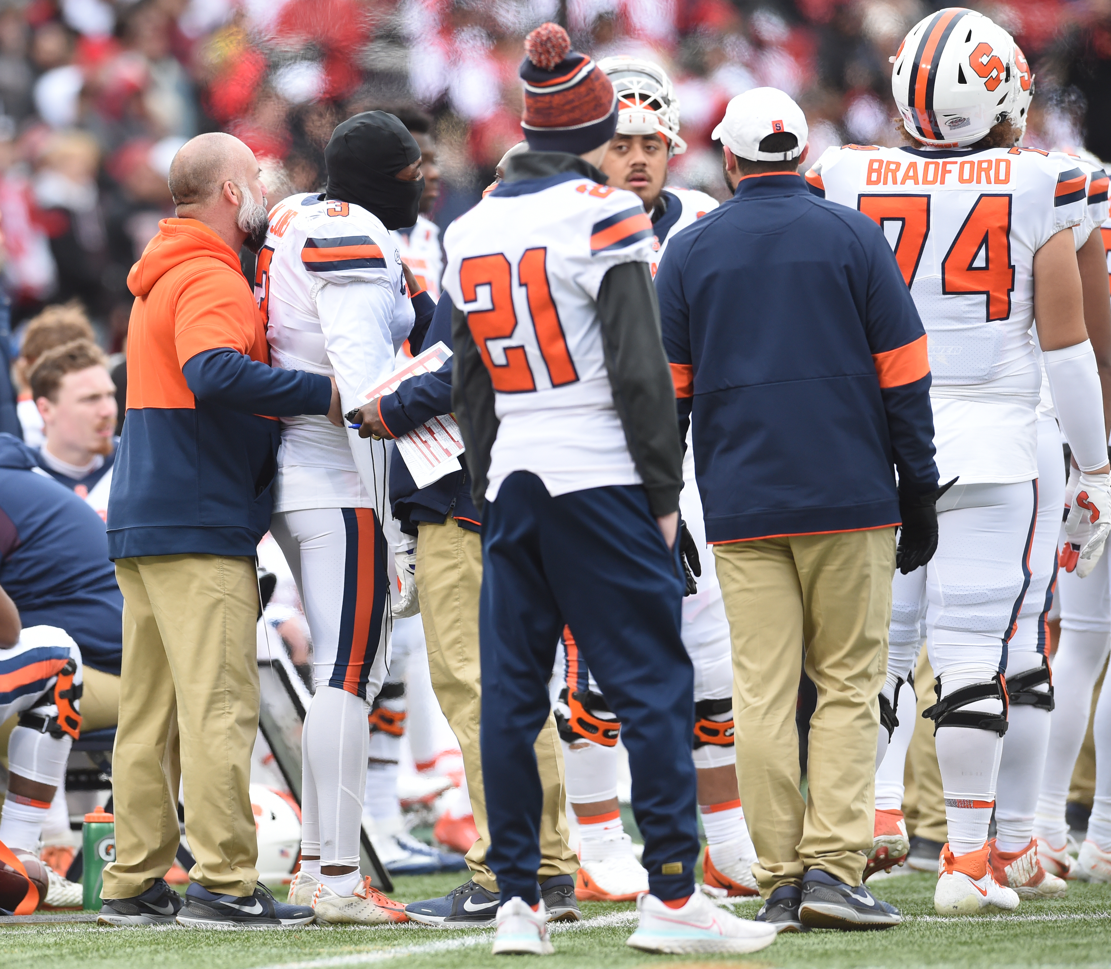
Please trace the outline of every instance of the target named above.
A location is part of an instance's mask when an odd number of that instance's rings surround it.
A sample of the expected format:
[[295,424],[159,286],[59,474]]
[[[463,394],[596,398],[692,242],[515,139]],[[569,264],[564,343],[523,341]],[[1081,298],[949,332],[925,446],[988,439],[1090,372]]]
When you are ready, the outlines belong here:
[[[467,786],[474,811],[479,840],[467,852],[471,877],[482,888],[498,890],[493,872],[486,863],[490,845],[486,790],[482,785],[482,752],[479,720],[482,685],[479,669],[479,590],[482,586],[482,539],[460,528],[453,518],[443,525],[420,523],[417,542],[417,588],[420,615],[428,642],[428,666],[432,689],[443,716],[463,752]],[[549,715],[536,743],[537,767],[544,789],[540,819],[539,878],[573,875],[579,861],[568,845],[563,806],[563,751],[556,719]]]

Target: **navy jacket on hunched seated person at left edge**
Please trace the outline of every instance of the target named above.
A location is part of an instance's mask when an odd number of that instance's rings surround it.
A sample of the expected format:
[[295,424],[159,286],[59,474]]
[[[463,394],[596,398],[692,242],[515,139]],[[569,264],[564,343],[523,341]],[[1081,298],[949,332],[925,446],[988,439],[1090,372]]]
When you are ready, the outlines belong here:
[[57,626],[81,660],[120,675],[123,596],[108,560],[104,522],[38,467],[38,454],[0,433],[0,587],[24,627]]

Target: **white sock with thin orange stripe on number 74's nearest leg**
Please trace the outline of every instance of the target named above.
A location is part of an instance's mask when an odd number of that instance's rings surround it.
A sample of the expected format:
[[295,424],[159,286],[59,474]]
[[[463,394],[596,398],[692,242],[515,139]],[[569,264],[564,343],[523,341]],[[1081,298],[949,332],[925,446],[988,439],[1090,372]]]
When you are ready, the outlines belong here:
[[[970,676],[952,671],[942,679],[942,696],[985,681],[981,670]],[[1000,700],[979,700],[961,709],[1001,713],[1003,705]],[[934,740],[945,798],[949,848],[953,855],[979,851],[988,843],[1003,738],[993,730],[941,727]]]

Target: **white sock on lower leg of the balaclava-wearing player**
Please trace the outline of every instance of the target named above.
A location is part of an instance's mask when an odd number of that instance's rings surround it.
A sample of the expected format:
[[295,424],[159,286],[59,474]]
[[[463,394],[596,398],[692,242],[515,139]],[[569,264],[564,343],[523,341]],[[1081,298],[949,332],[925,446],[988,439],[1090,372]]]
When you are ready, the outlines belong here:
[[316,788],[322,866],[359,865],[369,707],[354,693],[319,687],[304,718],[302,749]]

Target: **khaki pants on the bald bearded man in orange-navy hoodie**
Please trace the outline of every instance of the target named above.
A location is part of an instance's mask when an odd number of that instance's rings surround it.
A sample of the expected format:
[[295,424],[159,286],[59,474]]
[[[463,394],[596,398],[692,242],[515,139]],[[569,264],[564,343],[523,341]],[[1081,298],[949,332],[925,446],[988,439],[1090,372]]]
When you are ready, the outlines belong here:
[[120,559],[123,669],[112,757],[116,861],[103,898],[132,898],[173,863],[184,781],[189,872],[210,891],[254,891],[248,791],[259,723],[254,561],[180,555]]

